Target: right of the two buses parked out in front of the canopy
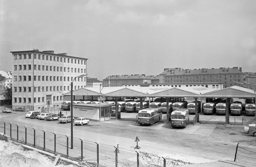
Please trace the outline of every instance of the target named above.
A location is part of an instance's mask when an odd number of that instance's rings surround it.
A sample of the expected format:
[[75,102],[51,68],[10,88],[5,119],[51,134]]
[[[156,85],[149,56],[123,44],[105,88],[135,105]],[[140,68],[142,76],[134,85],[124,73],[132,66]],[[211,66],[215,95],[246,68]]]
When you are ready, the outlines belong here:
[[186,128],[189,124],[189,110],[187,108],[176,109],[171,112],[171,126]]

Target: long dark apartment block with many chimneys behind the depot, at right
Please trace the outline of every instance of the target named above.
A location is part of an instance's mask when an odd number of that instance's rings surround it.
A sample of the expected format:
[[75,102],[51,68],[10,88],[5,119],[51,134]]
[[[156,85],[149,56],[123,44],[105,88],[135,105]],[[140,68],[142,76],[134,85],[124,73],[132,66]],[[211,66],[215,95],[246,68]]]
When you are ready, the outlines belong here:
[[[167,73],[167,74],[166,74]],[[243,82],[245,79],[245,73],[242,72],[242,68],[233,67],[219,69],[165,69],[160,74],[160,81],[164,83],[223,83],[223,88],[230,86],[241,86],[236,82]],[[213,87],[216,84],[212,85]]]

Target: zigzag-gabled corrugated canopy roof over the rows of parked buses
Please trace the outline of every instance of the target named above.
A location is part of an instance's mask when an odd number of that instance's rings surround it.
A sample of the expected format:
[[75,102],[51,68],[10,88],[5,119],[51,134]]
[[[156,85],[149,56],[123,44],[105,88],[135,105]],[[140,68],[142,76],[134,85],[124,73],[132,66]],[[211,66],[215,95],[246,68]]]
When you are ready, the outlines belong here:
[[[80,88],[73,91],[75,96],[100,96],[105,97],[237,97],[237,98],[253,98],[254,91],[240,86],[231,86],[228,88],[207,88],[204,86],[188,86],[188,87],[170,87],[170,86],[148,86],[148,87],[104,87],[99,92],[99,87]],[[71,92],[64,93],[63,96],[70,96]]]

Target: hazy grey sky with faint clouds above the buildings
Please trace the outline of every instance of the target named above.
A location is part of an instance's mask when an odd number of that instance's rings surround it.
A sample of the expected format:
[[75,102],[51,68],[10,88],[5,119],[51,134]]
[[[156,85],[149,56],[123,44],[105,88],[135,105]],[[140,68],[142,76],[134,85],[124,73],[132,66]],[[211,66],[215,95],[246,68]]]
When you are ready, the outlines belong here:
[[0,0],[0,70],[10,51],[88,58],[89,77],[164,68],[256,72],[255,0]]

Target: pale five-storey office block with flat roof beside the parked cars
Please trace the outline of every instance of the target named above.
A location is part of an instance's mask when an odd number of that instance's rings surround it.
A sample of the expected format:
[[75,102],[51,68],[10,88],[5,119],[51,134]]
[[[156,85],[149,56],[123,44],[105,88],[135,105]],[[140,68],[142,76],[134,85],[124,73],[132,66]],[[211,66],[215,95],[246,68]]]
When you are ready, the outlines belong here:
[[[54,51],[14,51],[13,107],[34,109],[61,105],[62,94],[71,90],[74,77],[87,73],[87,59]],[[86,87],[86,77],[76,78],[73,90]]]

